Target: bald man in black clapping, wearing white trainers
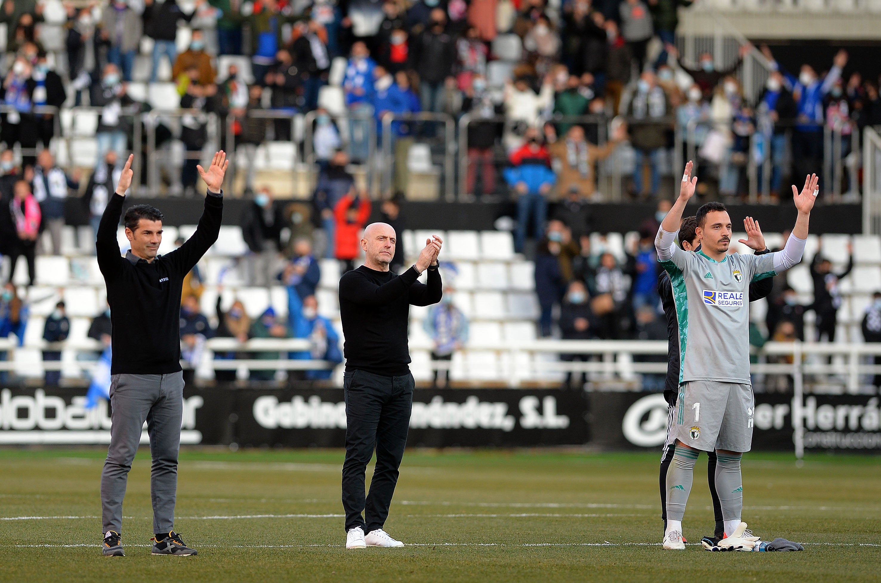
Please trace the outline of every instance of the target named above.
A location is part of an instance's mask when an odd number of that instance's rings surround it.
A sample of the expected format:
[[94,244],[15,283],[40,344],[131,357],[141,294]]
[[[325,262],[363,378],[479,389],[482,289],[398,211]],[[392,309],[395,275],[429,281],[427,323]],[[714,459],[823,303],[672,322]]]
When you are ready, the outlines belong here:
[[[395,244],[395,229],[390,225],[367,225],[361,238],[364,265],[339,280],[346,358],[346,549],[403,546],[382,527],[395,493],[413,404],[407,328],[411,304],[427,306],[441,301],[438,254],[442,241],[438,236],[427,239],[416,264],[401,275],[389,271]],[[427,283],[419,283],[417,278],[426,269]],[[365,498],[364,474],[374,449],[376,468]]]

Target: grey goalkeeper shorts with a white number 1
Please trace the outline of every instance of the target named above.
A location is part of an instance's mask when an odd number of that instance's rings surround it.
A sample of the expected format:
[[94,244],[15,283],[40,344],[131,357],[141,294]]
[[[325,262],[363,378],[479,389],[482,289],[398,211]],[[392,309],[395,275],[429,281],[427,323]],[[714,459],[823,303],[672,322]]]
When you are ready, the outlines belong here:
[[749,452],[754,409],[751,385],[691,381],[679,386],[670,437],[704,452]]

